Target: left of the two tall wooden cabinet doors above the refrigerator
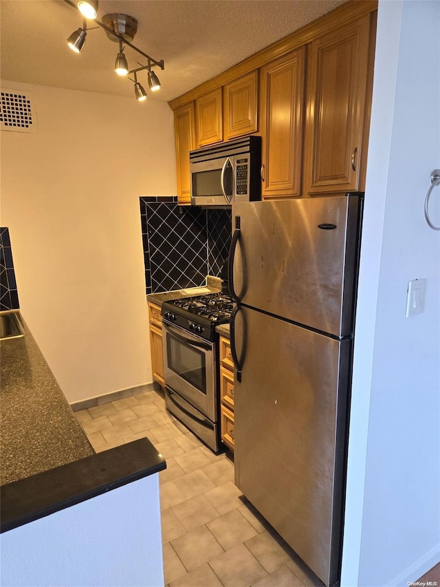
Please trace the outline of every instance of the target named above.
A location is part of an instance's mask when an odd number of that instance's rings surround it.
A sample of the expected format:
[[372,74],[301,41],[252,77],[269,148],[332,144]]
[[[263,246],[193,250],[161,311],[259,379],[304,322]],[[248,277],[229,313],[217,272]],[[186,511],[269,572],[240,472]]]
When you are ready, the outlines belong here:
[[300,195],[305,47],[261,69],[262,195]]

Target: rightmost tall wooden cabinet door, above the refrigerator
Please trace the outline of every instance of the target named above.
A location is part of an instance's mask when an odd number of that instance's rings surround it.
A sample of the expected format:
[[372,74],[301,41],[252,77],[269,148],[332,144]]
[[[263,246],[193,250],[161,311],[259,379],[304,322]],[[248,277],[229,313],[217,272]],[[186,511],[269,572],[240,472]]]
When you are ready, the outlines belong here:
[[311,43],[305,191],[355,191],[362,156],[370,16]]

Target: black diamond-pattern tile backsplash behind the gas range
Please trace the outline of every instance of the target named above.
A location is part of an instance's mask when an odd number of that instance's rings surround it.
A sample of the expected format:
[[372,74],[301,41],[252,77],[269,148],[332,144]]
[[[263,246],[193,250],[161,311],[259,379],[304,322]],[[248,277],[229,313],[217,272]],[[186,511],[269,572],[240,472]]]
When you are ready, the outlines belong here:
[[228,259],[230,210],[179,206],[177,197],[140,198],[146,293],[205,285]]

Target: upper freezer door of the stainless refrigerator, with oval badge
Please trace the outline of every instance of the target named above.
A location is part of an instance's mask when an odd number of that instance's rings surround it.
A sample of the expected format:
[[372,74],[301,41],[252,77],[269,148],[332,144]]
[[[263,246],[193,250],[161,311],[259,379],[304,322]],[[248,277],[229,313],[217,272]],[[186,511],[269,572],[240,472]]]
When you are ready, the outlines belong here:
[[233,288],[258,308],[337,337],[351,334],[358,195],[233,204]]

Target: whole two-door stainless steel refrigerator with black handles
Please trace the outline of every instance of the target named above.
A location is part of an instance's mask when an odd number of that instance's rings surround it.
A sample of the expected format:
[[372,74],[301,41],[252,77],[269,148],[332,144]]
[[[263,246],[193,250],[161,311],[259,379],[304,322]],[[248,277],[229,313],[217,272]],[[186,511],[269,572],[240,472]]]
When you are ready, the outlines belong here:
[[338,584],[359,193],[232,206],[235,483]]

